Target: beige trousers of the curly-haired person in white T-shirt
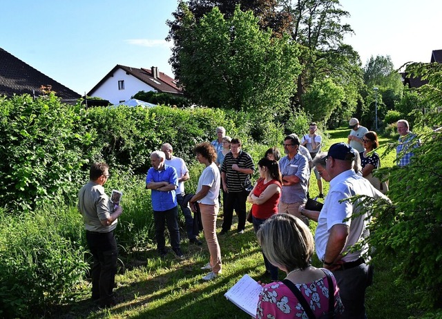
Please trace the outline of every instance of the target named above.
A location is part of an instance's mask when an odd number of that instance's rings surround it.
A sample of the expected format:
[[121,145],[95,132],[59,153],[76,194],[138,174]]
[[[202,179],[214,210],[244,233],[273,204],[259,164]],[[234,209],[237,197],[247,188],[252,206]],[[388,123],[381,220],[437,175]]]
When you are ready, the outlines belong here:
[[201,221],[206,238],[207,246],[210,252],[210,265],[213,273],[221,273],[221,249],[216,237],[216,217],[220,206],[199,204],[201,212]]

